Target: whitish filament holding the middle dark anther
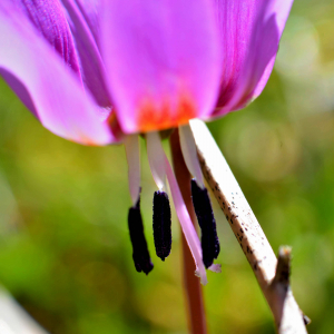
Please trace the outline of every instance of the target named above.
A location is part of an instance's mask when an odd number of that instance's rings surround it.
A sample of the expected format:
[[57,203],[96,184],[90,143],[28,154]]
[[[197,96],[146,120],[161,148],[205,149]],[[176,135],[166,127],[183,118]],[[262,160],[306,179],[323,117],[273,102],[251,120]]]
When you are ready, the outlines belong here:
[[159,132],[147,132],[146,144],[147,157],[151,175],[159,190],[163,190],[164,188],[166,188],[166,170],[164,164],[165,153],[161,147],[161,139]]

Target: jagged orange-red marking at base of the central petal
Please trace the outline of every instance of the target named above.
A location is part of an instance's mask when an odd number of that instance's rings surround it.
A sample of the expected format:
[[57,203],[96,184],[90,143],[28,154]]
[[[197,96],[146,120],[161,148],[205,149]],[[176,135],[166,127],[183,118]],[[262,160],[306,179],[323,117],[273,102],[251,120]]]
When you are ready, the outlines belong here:
[[164,130],[186,124],[196,117],[195,104],[183,97],[178,106],[174,108],[167,101],[163,106],[156,106],[151,100],[145,101],[138,115],[138,129],[141,132]]

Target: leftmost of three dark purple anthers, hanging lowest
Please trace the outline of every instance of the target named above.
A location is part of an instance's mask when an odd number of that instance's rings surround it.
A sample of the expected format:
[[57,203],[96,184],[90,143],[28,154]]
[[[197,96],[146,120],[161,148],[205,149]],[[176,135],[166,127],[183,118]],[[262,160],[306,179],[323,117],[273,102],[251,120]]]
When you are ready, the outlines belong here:
[[140,198],[138,198],[136,205],[129,209],[128,225],[132,243],[132,258],[136,271],[138,273],[144,272],[147,275],[153,269],[154,265],[150,262],[147,243],[144,235],[144,226],[140,214]]

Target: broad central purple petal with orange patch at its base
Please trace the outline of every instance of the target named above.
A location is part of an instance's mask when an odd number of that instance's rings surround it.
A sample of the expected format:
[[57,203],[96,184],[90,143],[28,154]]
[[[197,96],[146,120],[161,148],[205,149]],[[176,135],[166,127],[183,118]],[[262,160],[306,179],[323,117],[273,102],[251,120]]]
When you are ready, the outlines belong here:
[[105,0],[101,50],[125,132],[175,127],[215,105],[220,46],[212,0]]

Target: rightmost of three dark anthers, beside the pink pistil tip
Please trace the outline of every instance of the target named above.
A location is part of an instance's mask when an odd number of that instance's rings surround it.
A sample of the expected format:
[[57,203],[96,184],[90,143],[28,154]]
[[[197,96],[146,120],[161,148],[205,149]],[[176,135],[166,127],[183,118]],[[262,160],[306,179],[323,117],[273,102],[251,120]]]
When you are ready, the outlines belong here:
[[214,258],[218,257],[220,250],[216,230],[216,220],[207,189],[202,189],[195,179],[191,179],[191,196],[197,220],[202,230],[203,262],[208,268],[214,263]]

